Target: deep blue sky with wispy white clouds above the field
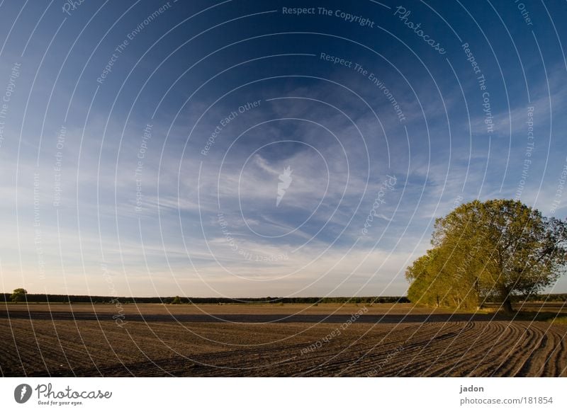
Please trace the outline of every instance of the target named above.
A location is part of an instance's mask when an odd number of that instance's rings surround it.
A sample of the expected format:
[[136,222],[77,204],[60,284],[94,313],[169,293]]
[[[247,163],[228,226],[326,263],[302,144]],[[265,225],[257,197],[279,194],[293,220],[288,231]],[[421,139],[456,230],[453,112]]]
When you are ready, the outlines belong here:
[[0,1],[1,290],[403,295],[456,205],[564,219],[566,19],[561,1]]

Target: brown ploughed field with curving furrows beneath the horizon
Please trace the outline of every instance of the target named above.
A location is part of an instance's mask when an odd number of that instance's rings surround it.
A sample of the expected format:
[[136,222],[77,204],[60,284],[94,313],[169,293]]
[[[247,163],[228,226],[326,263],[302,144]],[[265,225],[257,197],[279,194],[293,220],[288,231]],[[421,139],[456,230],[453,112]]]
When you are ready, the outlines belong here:
[[567,377],[565,316],[561,303],[517,318],[411,304],[3,303],[0,372]]

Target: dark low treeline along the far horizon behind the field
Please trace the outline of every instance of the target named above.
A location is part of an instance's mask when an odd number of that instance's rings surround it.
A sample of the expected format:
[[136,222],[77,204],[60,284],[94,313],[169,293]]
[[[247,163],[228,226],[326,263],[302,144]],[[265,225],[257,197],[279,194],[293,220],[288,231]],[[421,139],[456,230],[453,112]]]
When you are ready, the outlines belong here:
[[[0,302],[10,302],[10,293],[0,293]],[[176,297],[108,297],[83,294],[35,294],[26,295],[28,302],[50,303],[111,303],[118,299],[121,303],[172,303]],[[567,293],[532,294],[529,297],[517,295],[513,302],[567,302]],[[367,297],[179,297],[181,304],[320,304],[320,303],[410,303],[405,296],[367,296]],[[490,302],[487,300],[487,302]]]

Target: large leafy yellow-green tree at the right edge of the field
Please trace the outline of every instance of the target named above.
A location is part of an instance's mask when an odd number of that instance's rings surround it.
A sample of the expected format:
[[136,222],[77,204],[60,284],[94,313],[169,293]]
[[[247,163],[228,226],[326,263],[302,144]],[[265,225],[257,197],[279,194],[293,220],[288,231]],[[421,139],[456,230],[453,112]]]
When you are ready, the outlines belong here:
[[406,271],[412,302],[456,308],[554,283],[567,263],[567,222],[516,200],[474,200],[435,221],[434,248]]

